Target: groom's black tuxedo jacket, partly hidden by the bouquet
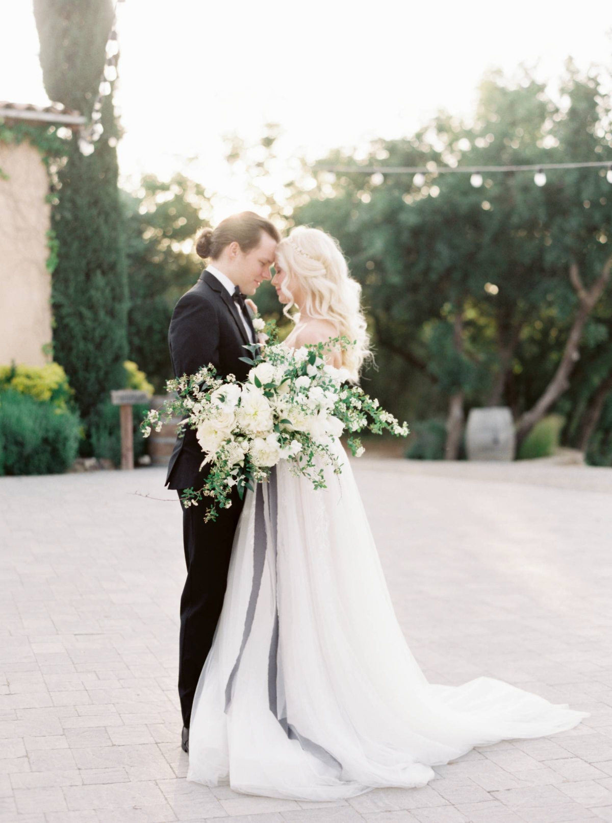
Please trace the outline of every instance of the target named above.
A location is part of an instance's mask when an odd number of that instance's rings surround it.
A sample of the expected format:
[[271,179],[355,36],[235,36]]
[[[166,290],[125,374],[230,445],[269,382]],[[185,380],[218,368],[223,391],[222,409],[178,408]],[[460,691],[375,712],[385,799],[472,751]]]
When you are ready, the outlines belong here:
[[[240,309],[211,272],[202,272],[196,285],[186,292],[170,320],[168,344],[175,377],[195,374],[212,363],[220,377],[235,374],[246,379],[249,366],[239,360],[250,357],[247,332],[240,319]],[[177,437],[168,466],[165,485],[169,489],[201,488],[208,467],[199,471],[204,459],[196,432],[184,427],[184,437]]]

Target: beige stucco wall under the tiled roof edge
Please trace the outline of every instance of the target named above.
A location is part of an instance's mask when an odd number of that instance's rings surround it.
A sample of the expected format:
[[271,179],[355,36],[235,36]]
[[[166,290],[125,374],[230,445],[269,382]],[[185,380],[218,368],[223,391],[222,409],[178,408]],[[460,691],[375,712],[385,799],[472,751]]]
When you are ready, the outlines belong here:
[[0,169],[0,365],[43,365],[52,336],[47,170],[27,142],[0,142]]

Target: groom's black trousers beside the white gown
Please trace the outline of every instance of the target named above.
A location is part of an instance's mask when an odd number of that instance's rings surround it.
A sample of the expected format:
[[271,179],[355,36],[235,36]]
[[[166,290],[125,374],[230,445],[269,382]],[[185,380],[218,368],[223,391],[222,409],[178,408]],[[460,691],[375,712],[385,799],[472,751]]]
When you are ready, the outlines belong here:
[[197,681],[223,607],[234,532],[243,506],[235,488],[233,492],[231,508],[220,511],[214,522],[204,523],[206,498],[197,506],[183,508],[187,579],[181,595],[178,697],[183,725],[188,728]]

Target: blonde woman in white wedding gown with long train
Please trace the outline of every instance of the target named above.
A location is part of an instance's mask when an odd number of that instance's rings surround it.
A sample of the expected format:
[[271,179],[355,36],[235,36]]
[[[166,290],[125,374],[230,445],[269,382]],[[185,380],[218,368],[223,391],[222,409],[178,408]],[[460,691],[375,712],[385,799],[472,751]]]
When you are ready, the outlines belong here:
[[[299,227],[276,250],[296,350],[345,334],[329,362],[368,354],[359,285],[336,241]],[[344,449],[313,490],[281,461],[247,492],[227,591],[193,701],[188,780],[297,800],[423,786],[473,746],[573,728],[585,712],[490,677],[429,683],[395,613]]]

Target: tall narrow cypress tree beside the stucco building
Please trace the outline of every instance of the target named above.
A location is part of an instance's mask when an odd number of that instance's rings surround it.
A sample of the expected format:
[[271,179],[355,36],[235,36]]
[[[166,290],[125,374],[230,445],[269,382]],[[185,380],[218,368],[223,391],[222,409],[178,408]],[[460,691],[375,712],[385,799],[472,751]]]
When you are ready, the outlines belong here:
[[[35,0],[34,8],[47,94],[90,117],[104,79],[112,0]],[[52,213],[59,244],[52,284],[53,356],[66,370],[89,428],[108,402],[109,390],[125,384],[127,357],[127,274],[112,84],[100,122],[104,133],[90,156],[81,153],[73,136],[58,172]]]

